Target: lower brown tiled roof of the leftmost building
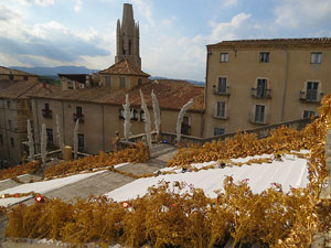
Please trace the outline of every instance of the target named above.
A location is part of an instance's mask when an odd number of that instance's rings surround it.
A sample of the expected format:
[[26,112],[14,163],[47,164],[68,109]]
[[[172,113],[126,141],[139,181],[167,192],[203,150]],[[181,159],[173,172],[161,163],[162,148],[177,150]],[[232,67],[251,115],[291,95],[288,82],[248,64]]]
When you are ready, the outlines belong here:
[[31,95],[50,94],[61,90],[60,87],[32,80],[14,82],[0,90],[0,98],[29,98]]

